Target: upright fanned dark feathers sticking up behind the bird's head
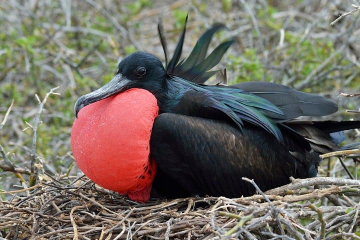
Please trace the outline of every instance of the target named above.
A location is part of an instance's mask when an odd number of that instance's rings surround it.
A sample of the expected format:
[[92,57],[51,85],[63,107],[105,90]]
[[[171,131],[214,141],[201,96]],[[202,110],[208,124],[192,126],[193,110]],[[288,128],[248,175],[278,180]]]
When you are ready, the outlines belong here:
[[167,44],[166,44],[165,35],[163,33],[162,23],[159,22],[157,26],[160,42],[165,55],[165,69],[166,72],[169,74],[182,77],[189,81],[203,83],[217,72],[217,70],[214,71],[209,71],[209,70],[220,61],[225,51],[235,40],[234,38],[231,38],[227,41],[220,43],[206,57],[207,49],[213,34],[219,31],[220,29],[226,28],[224,24],[215,23],[212,27],[207,29],[198,38],[189,56],[186,57],[186,59],[182,59],[179,62],[182,53],[183,41],[185,38],[186,21],[187,21],[187,16],[186,16],[184,28],[177,42],[174,53],[171,59],[168,61],[168,63],[167,63]]

